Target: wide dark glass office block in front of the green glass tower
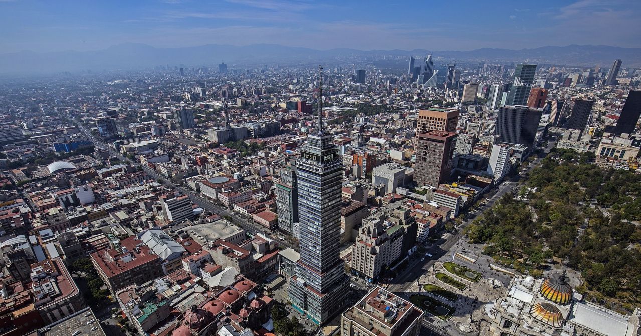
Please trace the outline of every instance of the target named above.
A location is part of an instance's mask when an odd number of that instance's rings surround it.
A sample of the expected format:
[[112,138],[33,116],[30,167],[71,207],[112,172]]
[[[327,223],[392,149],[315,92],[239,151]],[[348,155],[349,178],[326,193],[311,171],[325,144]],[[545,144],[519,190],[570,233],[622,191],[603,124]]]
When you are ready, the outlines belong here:
[[501,106],[494,132],[501,136],[499,138],[501,143],[524,145],[531,152],[535,145],[542,114],[543,109],[533,109],[528,106]]

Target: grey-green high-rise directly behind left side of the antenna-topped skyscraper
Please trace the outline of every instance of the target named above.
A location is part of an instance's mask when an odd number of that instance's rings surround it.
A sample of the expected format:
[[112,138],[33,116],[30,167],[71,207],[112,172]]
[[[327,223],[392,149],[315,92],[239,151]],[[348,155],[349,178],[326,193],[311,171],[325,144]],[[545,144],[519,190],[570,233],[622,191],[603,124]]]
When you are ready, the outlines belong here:
[[296,172],[292,168],[281,168],[280,180],[276,184],[276,207],[278,208],[278,228],[294,233],[294,223],[298,222],[298,187]]

